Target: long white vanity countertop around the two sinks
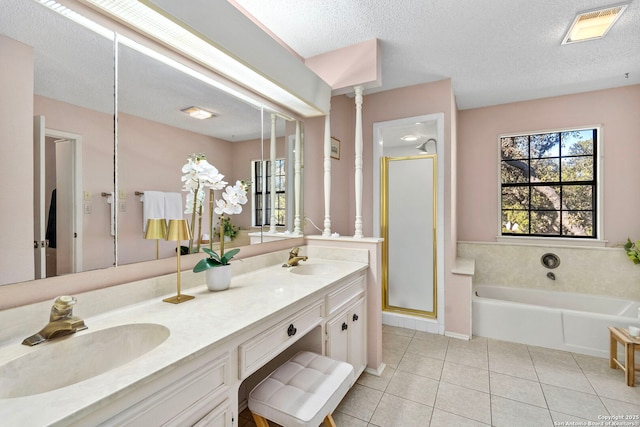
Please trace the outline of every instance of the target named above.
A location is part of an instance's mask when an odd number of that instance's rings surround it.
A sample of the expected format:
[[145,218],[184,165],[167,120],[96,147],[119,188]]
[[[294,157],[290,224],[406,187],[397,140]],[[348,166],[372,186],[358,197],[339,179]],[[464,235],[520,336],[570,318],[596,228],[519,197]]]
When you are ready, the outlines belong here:
[[[302,308],[303,303],[311,302],[326,287],[367,268],[367,264],[360,262],[320,259],[310,259],[305,265],[317,263],[330,263],[336,268],[322,275],[298,275],[281,265],[266,267],[235,276],[226,291],[209,292],[205,285],[183,291],[195,299],[182,304],[165,303],[162,298],[171,295],[164,295],[84,319],[89,329],[60,339],[73,340],[81,334],[131,323],[164,325],[170,336],[138,359],[91,379],[37,395],[0,399],[2,424],[21,427],[67,424],[161,376],[180,361],[191,360],[250,331],[294,304]],[[20,341],[0,348],[0,365],[57,344],[54,340],[27,347]]]

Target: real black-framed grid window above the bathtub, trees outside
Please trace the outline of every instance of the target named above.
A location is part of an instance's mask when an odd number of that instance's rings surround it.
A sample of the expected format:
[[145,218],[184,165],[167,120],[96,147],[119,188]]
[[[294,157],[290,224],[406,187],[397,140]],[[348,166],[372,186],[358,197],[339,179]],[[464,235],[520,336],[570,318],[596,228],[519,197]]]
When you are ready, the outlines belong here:
[[501,234],[597,236],[598,129],[500,137]]

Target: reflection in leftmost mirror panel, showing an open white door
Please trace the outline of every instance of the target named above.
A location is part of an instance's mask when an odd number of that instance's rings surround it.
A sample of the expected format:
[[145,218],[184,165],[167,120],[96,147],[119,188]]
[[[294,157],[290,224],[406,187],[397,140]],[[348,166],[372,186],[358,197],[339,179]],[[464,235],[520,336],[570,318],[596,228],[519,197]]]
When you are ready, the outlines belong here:
[[[4,246],[0,257],[19,274],[3,274],[0,283],[112,266],[112,205],[102,194],[110,196],[114,187],[113,42],[24,0],[3,2],[0,39],[7,46],[13,41],[21,43],[13,44],[11,50],[3,49],[3,62],[21,63],[23,76],[30,76],[29,70],[33,70],[33,92],[24,94],[29,99],[8,101],[16,106],[10,113],[16,115],[12,120],[22,122],[21,118],[28,116],[29,135],[37,137],[36,141],[19,141],[29,146],[28,157],[35,156],[37,161],[24,161],[21,156],[9,164],[22,171],[28,165],[33,180],[18,179],[12,186],[21,186],[17,190],[33,194],[34,200],[34,208],[29,204],[19,218],[14,215],[9,226],[19,229],[16,221],[28,222],[34,238],[30,241],[28,236],[20,236],[14,242],[26,251]],[[31,82],[23,80],[4,77],[0,80],[3,93],[7,93],[7,85],[18,82],[30,88]],[[27,105],[32,108],[21,109]],[[38,119],[32,130],[33,116]],[[9,194],[0,197],[11,199]]]

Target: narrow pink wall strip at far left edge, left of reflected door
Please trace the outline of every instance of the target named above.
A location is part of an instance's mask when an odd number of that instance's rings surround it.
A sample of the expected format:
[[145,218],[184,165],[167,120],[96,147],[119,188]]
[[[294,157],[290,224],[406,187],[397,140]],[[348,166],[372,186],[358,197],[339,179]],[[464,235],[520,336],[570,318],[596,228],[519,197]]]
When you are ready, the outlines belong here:
[[[33,270],[33,49],[0,36],[0,284]],[[18,185],[19,184],[19,185]],[[9,249],[10,250],[6,250]]]

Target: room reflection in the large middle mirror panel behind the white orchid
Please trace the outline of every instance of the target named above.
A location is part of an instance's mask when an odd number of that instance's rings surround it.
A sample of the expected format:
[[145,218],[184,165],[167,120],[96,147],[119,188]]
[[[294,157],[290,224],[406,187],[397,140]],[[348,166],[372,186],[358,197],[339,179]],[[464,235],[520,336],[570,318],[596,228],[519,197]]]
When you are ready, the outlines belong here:
[[[194,224],[192,215],[184,214],[187,192],[182,191],[181,180],[191,154],[204,154],[231,185],[253,180],[252,165],[262,160],[261,116],[270,113],[194,77],[193,69],[119,40],[123,43],[118,47],[118,264],[130,264],[155,259],[156,243],[159,258],[175,256],[171,242],[144,238],[148,219],[169,219],[168,212],[177,209],[181,218]],[[213,116],[197,119],[182,111],[194,106]],[[214,199],[221,193],[215,191]],[[215,214],[210,221],[211,200],[206,194],[201,222],[196,216],[192,227],[202,230],[201,246],[208,246],[214,234],[215,250],[220,224]],[[158,197],[172,198],[174,203],[177,198],[181,205],[172,208],[166,202],[159,207]],[[225,223],[225,248],[249,244],[249,232],[255,227],[259,231],[261,224],[252,222],[254,202],[250,200],[241,214]]]

